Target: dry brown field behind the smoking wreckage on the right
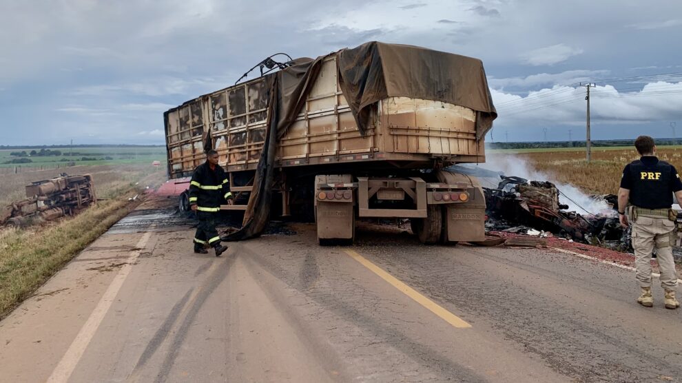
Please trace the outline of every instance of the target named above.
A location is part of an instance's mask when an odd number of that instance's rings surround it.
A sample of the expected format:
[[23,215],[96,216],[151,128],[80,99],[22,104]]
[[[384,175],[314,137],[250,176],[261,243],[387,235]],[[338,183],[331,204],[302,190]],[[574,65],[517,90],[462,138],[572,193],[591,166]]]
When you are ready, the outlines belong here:
[[[682,171],[682,148],[659,147],[658,156]],[[592,161],[589,164],[585,160],[584,151],[488,155],[490,161],[508,161],[510,157],[517,161],[520,159],[533,169],[588,193],[617,194],[623,167],[638,159],[639,155],[634,147],[619,150],[592,149]]]

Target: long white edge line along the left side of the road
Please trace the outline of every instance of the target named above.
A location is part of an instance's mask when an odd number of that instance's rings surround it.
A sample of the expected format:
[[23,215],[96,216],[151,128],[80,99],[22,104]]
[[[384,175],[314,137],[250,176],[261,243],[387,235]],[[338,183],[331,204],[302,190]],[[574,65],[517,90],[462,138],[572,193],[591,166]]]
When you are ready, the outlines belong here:
[[83,324],[81,331],[79,331],[78,335],[76,335],[76,339],[74,339],[74,341],[71,343],[71,346],[69,346],[69,349],[59,361],[59,364],[57,364],[57,366],[54,368],[54,371],[52,371],[52,375],[50,375],[47,382],[61,383],[67,382],[69,380],[69,377],[76,368],[76,364],[78,364],[79,360],[81,360],[83,352],[85,352],[85,348],[88,344],[90,344],[90,340],[92,340],[92,337],[99,328],[99,325],[102,323],[104,316],[112,306],[116,295],[118,295],[118,291],[121,290],[123,282],[125,282],[125,278],[127,278],[128,274],[130,274],[132,264],[134,264],[134,262],[140,256],[140,251],[144,249],[145,245],[147,245],[147,241],[149,240],[150,236],[152,236],[152,232],[147,231],[137,242],[137,245],[135,246],[136,250],[130,252],[130,256],[128,256],[125,265],[118,270],[114,280],[112,280],[112,283],[107,288],[107,291],[104,292],[104,295],[90,314],[90,317],[87,318],[87,321],[85,321],[85,324]]

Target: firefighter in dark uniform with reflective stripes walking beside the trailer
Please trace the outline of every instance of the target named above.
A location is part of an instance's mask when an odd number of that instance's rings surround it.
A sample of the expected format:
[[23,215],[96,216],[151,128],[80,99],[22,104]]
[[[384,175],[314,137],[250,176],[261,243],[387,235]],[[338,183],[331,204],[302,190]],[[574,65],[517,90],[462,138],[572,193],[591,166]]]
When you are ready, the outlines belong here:
[[218,165],[218,152],[210,149],[206,152],[206,162],[194,169],[189,183],[189,205],[196,211],[199,221],[194,235],[195,253],[208,253],[205,245],[215,249],[216,257],[227,250],[226,246],[220,245],[216,216],[223,200],[231,198],[227,173]]

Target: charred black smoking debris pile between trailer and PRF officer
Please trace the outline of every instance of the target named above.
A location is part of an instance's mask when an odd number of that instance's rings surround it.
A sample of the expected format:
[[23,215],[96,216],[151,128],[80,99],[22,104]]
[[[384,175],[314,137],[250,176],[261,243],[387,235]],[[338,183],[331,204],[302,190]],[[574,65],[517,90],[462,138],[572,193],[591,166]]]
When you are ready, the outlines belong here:
[[620,251],[630,248],[629,232],[621,227],[618,219],[617,196],[590,196],[603,201],[606,208],[594,213],[585,210],[581,214],[559,203],[562,193],[553,183],[515,176],[500,175],[499,178],[502,180],[497,188],[483,188],[487,230],[557,236]]

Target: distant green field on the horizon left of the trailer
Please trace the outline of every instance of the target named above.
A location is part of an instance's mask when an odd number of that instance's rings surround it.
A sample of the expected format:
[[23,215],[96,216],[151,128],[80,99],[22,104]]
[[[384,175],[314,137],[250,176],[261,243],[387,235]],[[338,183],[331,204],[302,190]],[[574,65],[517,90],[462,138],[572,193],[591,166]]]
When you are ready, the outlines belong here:
[[[161,146],[154,147],[74,147],[49,148],[59,150],[59,156],[12,156],[12,152],[25,151],[30,154],[32,150],[39,152],[40,149],[0,149],[0,168],[14,167],[66,167],[68,163],[76,165],[123,165],[123,164],[151,164],[152,161],[160,161],[165,167],[166,149]],[[70,155],[72,154],[72,155]],[[83,158],[87,158],[83,160]],[[7,163],[19,158],[28,158],[30,163]]]

